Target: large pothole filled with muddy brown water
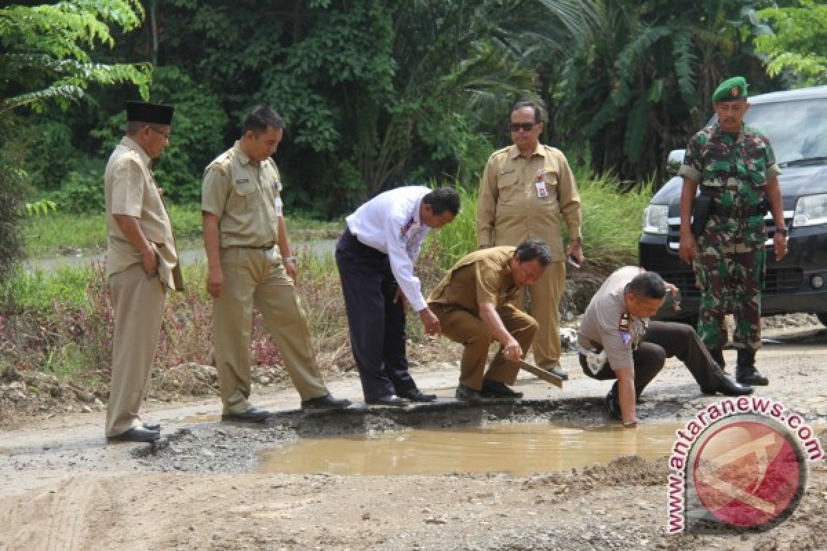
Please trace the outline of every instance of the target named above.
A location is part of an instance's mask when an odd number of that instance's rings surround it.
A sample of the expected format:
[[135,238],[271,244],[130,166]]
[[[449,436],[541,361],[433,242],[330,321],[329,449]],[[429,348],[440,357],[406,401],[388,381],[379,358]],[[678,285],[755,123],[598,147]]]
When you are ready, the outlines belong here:
[[280,411],[265,425],[203,419],[134,453],[179,472],[520,476],[668,454],[681,426],[672,403],[643,408],[654,415],[639,430],[607,424],[599,399]]

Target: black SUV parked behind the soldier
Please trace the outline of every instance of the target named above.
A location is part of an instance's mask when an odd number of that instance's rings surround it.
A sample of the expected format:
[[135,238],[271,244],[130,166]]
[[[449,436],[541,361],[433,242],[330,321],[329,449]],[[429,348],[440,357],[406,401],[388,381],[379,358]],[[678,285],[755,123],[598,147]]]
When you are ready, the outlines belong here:
[[[767,214],[767,278],[763,314],[807,312],[827,325],[827,86],[750,97],[744,122],[769,137],[782,175],[784,221],[790,229],[788,251],[775,259],[775,225]],[[713,118],[711,122],[714,122]],[[689,136],[686,136],[687,140]],[[683,150],[669,155],[676,174]],[[674,177],[643,213],[638,243],[640,265],[660,273],[681,290],[681,310],[661,310],[662,319],[696,319],[700,293],[695,275],[678,258],[682,178]]]

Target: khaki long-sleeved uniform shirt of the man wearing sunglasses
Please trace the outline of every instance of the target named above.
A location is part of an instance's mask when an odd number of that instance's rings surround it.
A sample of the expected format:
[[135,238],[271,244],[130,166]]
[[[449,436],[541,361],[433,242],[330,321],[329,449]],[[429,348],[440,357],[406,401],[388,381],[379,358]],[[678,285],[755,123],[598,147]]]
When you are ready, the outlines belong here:
[[[535,182],[543,172],[547,195],[539,197]],[[580,195],[566,156],[538,144],[531,159],[516,145],[495,151],[485,164],[477,200],[476,230],[480,246],[519,245],[541,239],[552,260],[565,259],[560,222],[571,238],[581,237]]]

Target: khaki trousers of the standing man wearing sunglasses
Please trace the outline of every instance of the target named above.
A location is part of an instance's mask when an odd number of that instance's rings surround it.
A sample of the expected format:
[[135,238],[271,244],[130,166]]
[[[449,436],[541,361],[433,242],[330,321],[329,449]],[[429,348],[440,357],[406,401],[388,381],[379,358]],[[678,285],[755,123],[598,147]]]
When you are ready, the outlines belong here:
[[[548,264],[537,283],[528,287],[531,316],[538,330],[532,352],[539,367],[560,363],[560,298],[566,290],[566,263]],[[520,287],[515,303],[525,309],[526,287]]]

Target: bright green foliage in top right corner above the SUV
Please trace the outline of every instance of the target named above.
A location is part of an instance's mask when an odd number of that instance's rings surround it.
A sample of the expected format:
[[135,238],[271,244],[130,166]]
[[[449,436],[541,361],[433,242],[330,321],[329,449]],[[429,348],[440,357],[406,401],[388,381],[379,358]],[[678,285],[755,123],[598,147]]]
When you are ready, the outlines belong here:
[[827,6],[799,0],[795,7],[758,12],[771,32],[754,38],[755,50],[767,56],[767,74],[789,76],[796,87],[827,83]]

